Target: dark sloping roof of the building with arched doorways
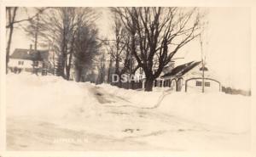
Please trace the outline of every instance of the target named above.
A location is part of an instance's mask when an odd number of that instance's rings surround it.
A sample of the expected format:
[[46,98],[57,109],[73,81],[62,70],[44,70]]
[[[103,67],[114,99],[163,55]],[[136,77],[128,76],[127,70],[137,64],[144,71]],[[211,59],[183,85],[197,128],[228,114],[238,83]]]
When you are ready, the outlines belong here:
[[199,62],[192,61],[186,64],[178,65],[177,67],[173,68],[170,72],[160,77],[164,78],[167,76],[183,76],[184,74],[189,72],[189,70],[192,70],[193,68],[195,68],[195,66],[197,66],[198,64],[201,64],[201,61]]

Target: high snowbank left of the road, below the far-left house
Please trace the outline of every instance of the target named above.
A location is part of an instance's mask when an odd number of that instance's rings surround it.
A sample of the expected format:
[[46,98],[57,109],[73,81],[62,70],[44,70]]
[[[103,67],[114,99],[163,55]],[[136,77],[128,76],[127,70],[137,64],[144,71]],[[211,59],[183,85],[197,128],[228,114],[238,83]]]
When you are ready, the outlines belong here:
[[78,118],[87,110],[93,113],[96,101],[88,84],[65,81],[56,76],[9,74],[7,76],[7,112],[9,116],[32,116],[49,121]]

